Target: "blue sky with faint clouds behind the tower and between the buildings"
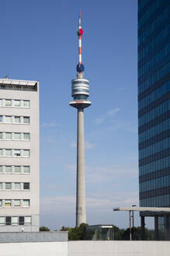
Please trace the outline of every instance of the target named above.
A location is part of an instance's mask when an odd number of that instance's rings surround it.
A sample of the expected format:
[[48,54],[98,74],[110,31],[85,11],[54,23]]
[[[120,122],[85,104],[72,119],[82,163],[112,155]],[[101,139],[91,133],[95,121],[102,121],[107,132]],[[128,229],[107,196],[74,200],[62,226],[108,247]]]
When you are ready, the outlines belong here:
[[77,115],[69,101],[79,7],[92,101],[85,109],[87,222],[127,227],[127,213],[112,208],[138,204],[137,1],[2,1],[1,77],[40,81],[40,224],[75,226]]

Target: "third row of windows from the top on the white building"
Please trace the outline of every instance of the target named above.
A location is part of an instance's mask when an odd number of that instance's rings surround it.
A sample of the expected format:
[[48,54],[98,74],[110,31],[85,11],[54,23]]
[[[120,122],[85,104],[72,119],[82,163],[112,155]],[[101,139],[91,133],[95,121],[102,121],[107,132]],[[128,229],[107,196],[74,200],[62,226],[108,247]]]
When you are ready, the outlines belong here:
[[30,133],[0,132],[0,140],[30,140]]

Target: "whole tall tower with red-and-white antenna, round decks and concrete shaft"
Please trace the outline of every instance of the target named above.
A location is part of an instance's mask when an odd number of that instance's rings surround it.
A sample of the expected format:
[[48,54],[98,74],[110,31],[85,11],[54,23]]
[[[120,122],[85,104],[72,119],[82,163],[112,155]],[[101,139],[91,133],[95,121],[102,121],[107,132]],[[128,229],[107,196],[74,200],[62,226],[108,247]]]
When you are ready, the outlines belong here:
[[71,81],[71,107],[78,109],[78,133],[77,133],[77,191],[76,191],[76,226],[86,223],[85,210],[85,148],[84,148],[84,108],[91,105],[88,101],[89,81],[84,78],[84,66],[82,64],[82,34],[81,12],[78,20],[78,56],[77,77]]

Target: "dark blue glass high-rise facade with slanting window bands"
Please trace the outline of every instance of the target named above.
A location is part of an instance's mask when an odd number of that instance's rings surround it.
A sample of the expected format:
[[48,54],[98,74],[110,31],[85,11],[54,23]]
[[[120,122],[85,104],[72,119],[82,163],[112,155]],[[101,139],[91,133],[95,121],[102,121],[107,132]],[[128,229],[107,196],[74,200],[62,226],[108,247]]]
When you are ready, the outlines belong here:
[[138,0],[139,197],[144,207],[170,207],[169,13],[168,0]]

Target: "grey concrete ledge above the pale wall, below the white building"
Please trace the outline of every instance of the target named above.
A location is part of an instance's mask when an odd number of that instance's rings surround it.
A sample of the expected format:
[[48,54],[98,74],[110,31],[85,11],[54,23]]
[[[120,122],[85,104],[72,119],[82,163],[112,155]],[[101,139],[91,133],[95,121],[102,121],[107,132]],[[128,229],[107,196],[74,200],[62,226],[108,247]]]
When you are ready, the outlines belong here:
[[67,242],[68,231],[0,233],[0,243]]

